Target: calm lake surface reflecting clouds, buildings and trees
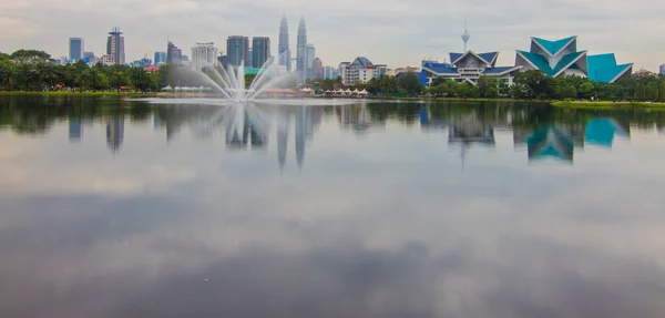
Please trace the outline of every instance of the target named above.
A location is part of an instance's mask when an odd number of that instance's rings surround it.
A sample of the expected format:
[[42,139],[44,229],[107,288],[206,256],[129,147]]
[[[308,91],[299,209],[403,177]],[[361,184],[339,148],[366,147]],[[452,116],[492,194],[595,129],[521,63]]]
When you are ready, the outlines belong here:
[[665,317],[665,113],[0,96],[0,317]]

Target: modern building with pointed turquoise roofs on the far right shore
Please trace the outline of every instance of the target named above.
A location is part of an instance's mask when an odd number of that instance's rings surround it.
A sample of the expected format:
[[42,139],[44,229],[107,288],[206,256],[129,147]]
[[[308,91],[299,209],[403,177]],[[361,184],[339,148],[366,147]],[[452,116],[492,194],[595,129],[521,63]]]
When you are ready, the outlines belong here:
[[516,51],[515,65],[522,71],[541,70],[548,76],[577,75],[596,82],[614,83],[631,75],[633,64],[617,64],[613,53],[589,55],[577,51],[577,37],[560,40],[531,38],[531,49]]

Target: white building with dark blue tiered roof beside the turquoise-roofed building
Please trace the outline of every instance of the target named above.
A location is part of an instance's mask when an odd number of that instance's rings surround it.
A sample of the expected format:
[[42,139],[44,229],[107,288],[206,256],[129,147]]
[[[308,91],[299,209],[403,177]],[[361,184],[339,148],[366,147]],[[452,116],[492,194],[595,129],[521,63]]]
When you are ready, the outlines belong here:
[[502,84],[512,85],[514,74],[521,66],[497,66],[498,58],[499,52],[475,53],[469,50],[466,53],[450,53],[450,63],[422,61],[421,83],[427,85],[433,79],[449,79],[475,85],[480,76],[494,76]]

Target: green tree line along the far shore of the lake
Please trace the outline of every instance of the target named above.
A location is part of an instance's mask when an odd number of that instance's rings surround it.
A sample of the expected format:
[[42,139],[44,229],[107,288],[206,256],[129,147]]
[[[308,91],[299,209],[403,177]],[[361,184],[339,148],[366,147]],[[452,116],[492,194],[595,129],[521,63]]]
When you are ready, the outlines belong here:
[[[160,88],[201,86],[209,84],[191,68],[165,64],[158,73],[147,73],[141,68],[104,65],[90,68],[83,61],[55,65],[51,55],[37,50],[18,50],[0,53],[0,90],[43,91],[69,89],[76,91],[112,91],[131,86],[135,91],[158,91]],[[204,70],[205,72],[205,70]],[[246,86],[253,75],[246,76]],[[665,76],[654,73],[634,74],[615,83],[594,82],[587,78],[565,75],[546,76],[542,71],[518,72],[513,84],[497,78],[481,76],[477,85],[453,80],[434,79],[429,88],[420,84],[415,73],[399,76],[380,75],[366,84],[341,85],[341,79],[314,80],[323,90],[350,88],[367,90],[379,96],[484,98],[523,100],[602,100],[602,101],[665,101]],[[294,82],[295,86],[296,83]]]

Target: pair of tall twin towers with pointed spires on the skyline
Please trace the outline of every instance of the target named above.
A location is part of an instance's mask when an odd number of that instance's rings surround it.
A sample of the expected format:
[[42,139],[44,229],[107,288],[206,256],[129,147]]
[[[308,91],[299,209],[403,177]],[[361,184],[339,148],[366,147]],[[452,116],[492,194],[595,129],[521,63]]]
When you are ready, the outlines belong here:
[[[279,24],[279,65],[286,66],[288,72],[291,71],[291,50],[288,37],[288,21],[286,16],[282,17]],[[296,45],[296,70],[303,79],[307,76],[307,27],[305,18],[300,18],[298,24],[298,40]]]

